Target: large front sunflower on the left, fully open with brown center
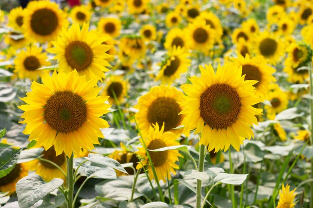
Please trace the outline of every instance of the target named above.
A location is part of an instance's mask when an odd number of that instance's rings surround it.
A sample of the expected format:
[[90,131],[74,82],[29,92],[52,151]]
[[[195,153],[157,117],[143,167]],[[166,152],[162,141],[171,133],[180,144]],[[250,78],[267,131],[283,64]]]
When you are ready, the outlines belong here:
[[104,104],[108,97],[97,96],[96,82],[79,77],[76,70],[68,74],[54,71],[52,77],[45,72],[43,84],[33,81],[32,91],[21,98],[27,103],[19,106],[25,111],[21,115],[25,120],[20,122],[26,124],[23,133],[45,150],[54,145],[56,155],[64,151],[70,157],[80,148],[93,149],[93,144],[99,144],[98,137],[103,137],[99,128],[108,127],[99,116],[110,107]]

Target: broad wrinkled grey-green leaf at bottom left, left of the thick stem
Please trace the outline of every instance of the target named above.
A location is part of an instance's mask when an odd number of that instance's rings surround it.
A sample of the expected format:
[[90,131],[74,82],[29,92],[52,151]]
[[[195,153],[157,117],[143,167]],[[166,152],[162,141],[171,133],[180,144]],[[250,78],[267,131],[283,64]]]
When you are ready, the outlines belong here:
[[42,178],[36,174],[26,176],[16,183],[18,206],[20,208],[30,208],[62,184],[63,180],[58,178],[45,183]]

